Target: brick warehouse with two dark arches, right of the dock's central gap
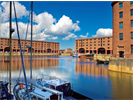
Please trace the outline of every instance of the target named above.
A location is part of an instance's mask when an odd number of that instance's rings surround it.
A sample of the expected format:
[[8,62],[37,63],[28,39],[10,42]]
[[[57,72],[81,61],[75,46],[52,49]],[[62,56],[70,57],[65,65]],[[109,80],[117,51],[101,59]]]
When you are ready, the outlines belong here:
[[75,52],[112,54],[112,36],[76,39]]

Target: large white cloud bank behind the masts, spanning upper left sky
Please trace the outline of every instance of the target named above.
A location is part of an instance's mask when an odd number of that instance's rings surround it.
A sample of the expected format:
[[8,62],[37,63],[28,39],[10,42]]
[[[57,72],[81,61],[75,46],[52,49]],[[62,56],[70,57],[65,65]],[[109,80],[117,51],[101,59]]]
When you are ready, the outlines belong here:
[[[1,10],[3,23],[1,24],[1,32],[3,37],[9,37],[9,3],[10,2],[2,2],[1,3]],[[13,6],[12,6],[13,7]],[[15,1],[17,19],[27,18],[29,11],[26,10],[26,7],[19,2]],[[29,5],[30,7],[30,5]],[[14,16],[14,8],[12,9],[12,19],[15,18]],[[28,19],[27,19],[28,20]],[[58,39],[58,36],[71,36],[71,31],[79,31],[80,27],[78,26],[79,21],[77,20],[76,23],[73,23],[70,17],[63,15],[58,21],[48,12],[42,12],[38,15],[33,12],[33,21],[35,25],[33,25],[33,39],[37,40],[46,40],[46,39]],[[12,27],[15,29],[12,37],[17,38],[17,29],[16,29],[16,22],[12,22]],[[25,39],[25,33],[27,28],[27,23],[18,22],[19,27],[19,34],[21,39]],[[31,25],[29,24],[28,29],[28,36],[27,38],[30,39],[30,31]],[[76,35],[73,34],[74,37]],[[70,38],[70,37],[69,37]]]

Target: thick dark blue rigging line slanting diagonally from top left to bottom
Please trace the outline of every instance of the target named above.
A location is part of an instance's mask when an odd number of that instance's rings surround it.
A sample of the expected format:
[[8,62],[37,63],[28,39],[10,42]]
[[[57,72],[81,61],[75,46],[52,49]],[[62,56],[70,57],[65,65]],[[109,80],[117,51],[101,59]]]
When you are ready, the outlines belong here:
[[19,42],[19,47],[20,47],[20,50],[21,50],[21,60],[22,60],[24,78],[25,78],[25,83],[26,83],[28,99],[30,100],[30,95],[29,95],[29,90],[28,90],[28,82],[27,82],[26,73],[25,73],[25,67],[24,67],[24,62],[23,62],[23,54],[22,54],[22,48],[21,48],[21,43],[20,43],[19,30],[18,30],[18,24],[17,24],[17,15],[16,15],[16,9],[15,9],[14,1],[13,1],[13,5],[14,5],[14,13],[15,13],[15,20],[16,20],[16,27],[17,27],[17,34],[18,34],[18,42]]

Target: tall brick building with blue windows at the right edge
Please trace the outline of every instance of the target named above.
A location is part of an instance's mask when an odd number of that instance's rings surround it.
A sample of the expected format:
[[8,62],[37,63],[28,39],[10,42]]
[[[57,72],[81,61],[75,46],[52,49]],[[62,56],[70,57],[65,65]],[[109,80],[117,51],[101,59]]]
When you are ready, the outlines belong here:
[[133,58],[133,1],[113,1],[113,57]]

